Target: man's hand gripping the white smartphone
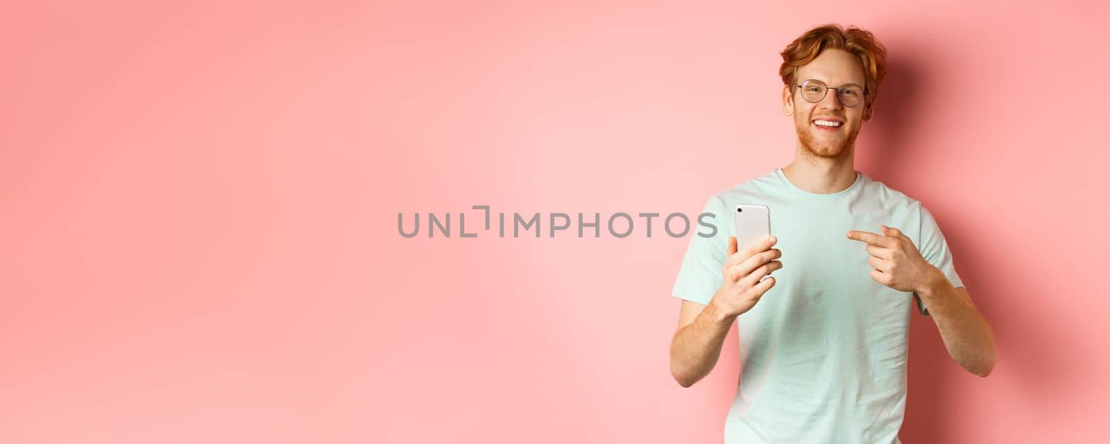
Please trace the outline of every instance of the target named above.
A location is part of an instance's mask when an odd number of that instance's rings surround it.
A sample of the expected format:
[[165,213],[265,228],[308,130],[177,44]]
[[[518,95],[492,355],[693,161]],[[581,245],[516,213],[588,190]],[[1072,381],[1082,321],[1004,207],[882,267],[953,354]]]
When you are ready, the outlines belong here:
[[733,318],[751,310],[759,298],[775,286],[773,277],[759,279],[783,268],[783,262],[775,260],[783,257],[783,251],[770,248],[776,241],[775,236],[768,236],[737,251],[736,236],[729,236],[728,257],[722,268],[724,282],[709,303]]

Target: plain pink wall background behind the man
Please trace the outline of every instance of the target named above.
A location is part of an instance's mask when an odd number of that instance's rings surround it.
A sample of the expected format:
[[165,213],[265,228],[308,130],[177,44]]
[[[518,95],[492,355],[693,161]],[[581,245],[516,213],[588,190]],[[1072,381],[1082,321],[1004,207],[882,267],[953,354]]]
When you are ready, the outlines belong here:
[[735,334],[668,369],[688,238],[397,213],[696,214],[789,163],[827,21],[890,51],[857,168],[998,341],[979,379],[914,317],[904,442],[1107,440],[1106,7],[205,3],[0,18],[0,442],[720,442]]

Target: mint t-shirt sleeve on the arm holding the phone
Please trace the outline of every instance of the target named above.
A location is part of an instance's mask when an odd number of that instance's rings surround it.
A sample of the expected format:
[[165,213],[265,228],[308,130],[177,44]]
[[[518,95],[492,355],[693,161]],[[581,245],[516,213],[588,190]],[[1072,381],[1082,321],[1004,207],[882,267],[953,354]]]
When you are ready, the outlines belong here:
[[[712,214],[713,216],[702,215]],[[725,203],[717,196],[709,198],[702,214],[693,225],[693,235],[678,278],[670,295],[703,306],[708,306],[713,295],[720,288],[720,275],[728,255],[728,231],[725,229],[729,215]],[[702,224],[704,223],[704,225]],[[706,226],[712,225],[712,227]],[[712,235],[712,236],[710,236]],[[708,236],[708,237],[704,237]]]

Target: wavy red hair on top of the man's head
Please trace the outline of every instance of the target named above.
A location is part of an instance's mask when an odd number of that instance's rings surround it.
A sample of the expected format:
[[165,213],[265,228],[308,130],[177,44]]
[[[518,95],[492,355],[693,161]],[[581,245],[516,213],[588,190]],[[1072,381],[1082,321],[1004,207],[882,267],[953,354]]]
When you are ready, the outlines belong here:
[[[838,24],[825,24],[806,31],[790,42],[783,50],[783,65],[778,69],[783,83],[793,85],[798,81],[798,68],[813,62],[821,51],[830,49],[848,51],[859,56],[867,78],[867,101],[874,101],[882,78],[887,74],[887,49],[869,31],[856,27],[844,29]],[[790,94],[794,94],[794,89],[790,89]]]

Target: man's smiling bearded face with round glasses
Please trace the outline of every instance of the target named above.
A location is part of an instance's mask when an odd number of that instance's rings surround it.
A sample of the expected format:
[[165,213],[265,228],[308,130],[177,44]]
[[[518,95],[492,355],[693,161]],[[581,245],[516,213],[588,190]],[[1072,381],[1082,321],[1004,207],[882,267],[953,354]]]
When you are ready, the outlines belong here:
[[798,68],[794,84],[783,89],[783,113],[794,116],[799,147],[816,157],[851,155],[859,128],[871,117],[874,102],[867,99],[848,107],[829,90],[820,102],[809,103],[797,87],[809,79],[834,87],[848,83],[864,86],[867,78],[859,56],[842,50],[825,50],[813,62]]

